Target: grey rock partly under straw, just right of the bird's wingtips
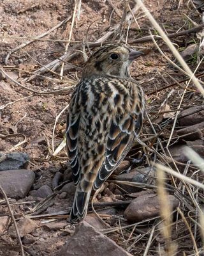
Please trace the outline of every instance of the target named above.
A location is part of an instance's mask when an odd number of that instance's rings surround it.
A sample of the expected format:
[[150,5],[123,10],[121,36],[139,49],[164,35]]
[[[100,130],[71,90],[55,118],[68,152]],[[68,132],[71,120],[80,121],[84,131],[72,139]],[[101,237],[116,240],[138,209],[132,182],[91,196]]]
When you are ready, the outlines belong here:
[[[115,180],[130,181],[145,184],[154,184],[154,170],[147,168],[135,168],[129,173],[123,173],[115,177]],[[138,187],[133,187],[127,184],[118,184],[120,188],[124,189],[128,193],[134,193],[140,190]]]

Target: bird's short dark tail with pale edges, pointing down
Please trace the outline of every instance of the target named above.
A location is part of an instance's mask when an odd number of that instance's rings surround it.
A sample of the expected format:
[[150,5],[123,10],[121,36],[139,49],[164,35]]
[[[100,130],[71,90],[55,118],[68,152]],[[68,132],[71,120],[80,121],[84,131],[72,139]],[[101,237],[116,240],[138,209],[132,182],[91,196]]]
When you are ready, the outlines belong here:
[[69,216],[70,222],[76,222],[84,219],[87,214],[90,195],[91,191],[84,192],[78,191],[77,189],[77,191],[75,192],[75,198]]

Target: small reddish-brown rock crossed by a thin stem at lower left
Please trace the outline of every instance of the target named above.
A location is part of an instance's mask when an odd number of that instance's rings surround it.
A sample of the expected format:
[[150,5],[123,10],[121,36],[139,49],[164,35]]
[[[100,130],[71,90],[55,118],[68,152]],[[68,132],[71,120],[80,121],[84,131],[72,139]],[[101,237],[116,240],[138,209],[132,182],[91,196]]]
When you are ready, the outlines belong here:
[[[36,223],[29,218],[24,218],[17,222],[20,237],[24,237],[26,234],[30,234],[31,232],[33,232],[36,226]],[[9,233],[10,236],[16,237],[15,227],[13,225],[11,225],[11,227],[9,228]]]

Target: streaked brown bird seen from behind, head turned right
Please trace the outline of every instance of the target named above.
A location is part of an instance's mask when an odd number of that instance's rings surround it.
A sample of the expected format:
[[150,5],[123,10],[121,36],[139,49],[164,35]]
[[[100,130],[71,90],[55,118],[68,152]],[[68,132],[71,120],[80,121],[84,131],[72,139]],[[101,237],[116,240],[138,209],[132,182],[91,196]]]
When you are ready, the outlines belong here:
[[144,93],[129,66],[142,56],[124,44],[108,44],[85,62],[69,102],[66,146],[76,192],[69,221],[87,215],[98,191],[128,154],[142,130]]

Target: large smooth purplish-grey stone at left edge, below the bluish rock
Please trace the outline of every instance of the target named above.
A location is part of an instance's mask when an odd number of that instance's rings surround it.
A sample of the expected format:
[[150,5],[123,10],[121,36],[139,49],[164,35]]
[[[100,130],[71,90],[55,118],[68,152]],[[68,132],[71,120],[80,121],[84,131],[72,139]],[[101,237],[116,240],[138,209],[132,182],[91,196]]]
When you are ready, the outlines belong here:
[[0,185],[11,198],[24,198],[34,182],[34,172],[28,170],[9,170],[0,172]]

